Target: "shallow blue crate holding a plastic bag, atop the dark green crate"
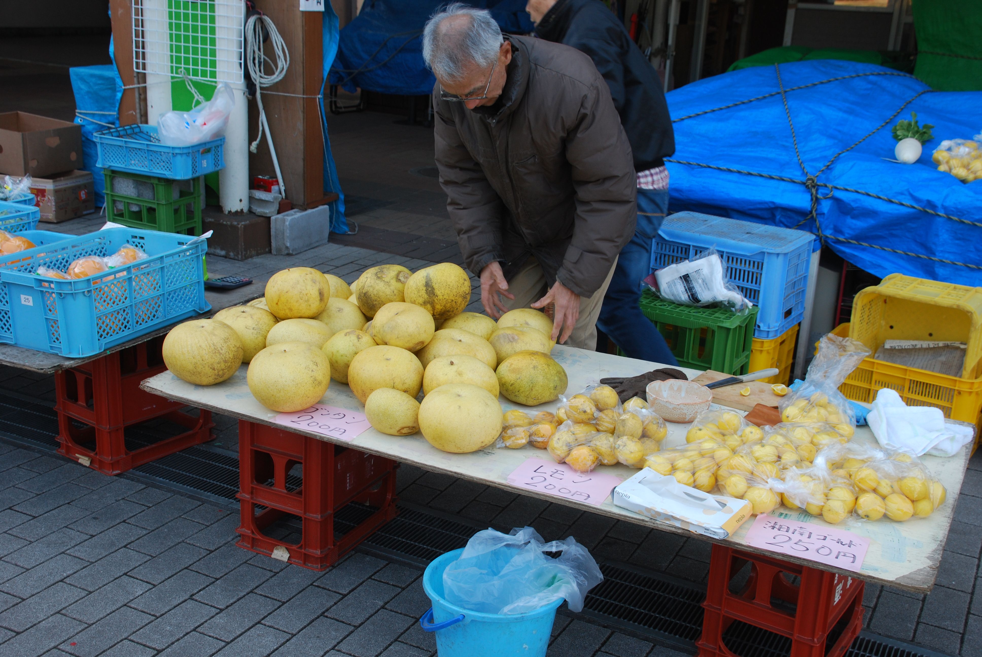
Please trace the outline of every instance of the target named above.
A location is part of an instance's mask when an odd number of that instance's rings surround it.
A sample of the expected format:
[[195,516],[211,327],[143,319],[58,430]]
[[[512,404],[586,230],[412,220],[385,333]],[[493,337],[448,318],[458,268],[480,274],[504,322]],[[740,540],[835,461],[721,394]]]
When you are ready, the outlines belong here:
[[92,136],[99,152],[95,166],[132,174],[189,180],[225,167],[225,137],[192,146],[160,143],[156,126],[123,126]]

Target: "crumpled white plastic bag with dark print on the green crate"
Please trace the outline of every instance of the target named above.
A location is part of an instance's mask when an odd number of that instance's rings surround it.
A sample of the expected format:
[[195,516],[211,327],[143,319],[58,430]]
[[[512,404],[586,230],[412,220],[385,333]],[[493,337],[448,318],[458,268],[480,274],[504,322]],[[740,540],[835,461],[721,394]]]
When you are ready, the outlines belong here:
[[699,306],[722,303],[734,310],[753,305],[727,279],[727,268],[715,248],[699,258],[663,267],[655,272],[654,278],[658,287],[655,293],[667,301]]

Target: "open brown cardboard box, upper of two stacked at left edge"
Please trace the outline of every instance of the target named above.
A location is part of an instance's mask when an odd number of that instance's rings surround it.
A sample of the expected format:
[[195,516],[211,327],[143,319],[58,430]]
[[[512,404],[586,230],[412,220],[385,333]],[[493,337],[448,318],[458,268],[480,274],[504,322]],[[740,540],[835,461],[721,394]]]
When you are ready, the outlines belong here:
[[0,174],[50,176],[82,166],[82,126],[27,112],[0,114]]

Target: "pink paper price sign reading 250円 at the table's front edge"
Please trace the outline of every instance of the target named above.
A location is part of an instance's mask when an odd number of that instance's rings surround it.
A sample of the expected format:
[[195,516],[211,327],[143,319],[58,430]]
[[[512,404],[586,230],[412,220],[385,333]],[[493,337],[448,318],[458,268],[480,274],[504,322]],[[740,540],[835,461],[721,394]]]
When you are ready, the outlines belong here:
[[747,545],[859,572],[869,539],[845,529],[761,515],[746,532]]

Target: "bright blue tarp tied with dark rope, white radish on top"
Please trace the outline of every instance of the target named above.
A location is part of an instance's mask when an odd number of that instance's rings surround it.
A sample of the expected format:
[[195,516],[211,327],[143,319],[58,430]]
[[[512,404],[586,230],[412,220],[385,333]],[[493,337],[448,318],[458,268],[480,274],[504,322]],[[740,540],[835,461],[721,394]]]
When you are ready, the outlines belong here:
[[[672,211],[811,231],[877,276],[982,285],[982,181],[963,184],[931,161],[943,139],[982,132],[982,92],[821,60],[716,76],[668,102]],[[914,164],[883,159],[911,112],[935,138]]]

